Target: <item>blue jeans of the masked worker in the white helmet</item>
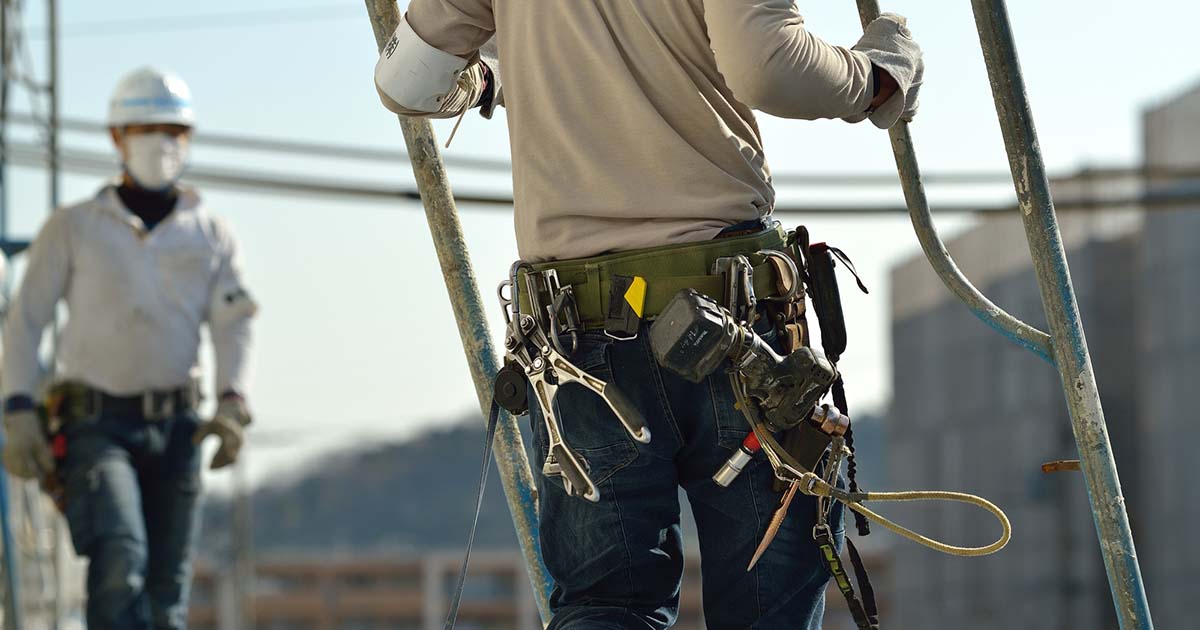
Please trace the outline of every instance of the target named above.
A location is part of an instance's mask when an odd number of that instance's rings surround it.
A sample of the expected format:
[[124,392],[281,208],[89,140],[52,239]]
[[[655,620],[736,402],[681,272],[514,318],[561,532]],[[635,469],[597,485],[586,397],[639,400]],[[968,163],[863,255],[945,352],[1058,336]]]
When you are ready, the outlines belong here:
[[193,412],[162,421],[112,418],[66,425],[66,516],[89,558],[88,628],[187,624],[200,494]]

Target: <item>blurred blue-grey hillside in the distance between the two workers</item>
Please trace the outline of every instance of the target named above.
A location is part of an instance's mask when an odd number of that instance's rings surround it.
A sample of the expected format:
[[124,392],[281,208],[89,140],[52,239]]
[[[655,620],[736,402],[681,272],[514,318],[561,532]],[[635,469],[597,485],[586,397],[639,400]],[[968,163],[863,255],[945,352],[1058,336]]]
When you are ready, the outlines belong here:
[[[524,428],[527,422],[521,424]],[[887,488],[883,425],[865,415],[854,424],[864,488]],[[334,456],[300,479],[258,488],[254,544],[264,552],[461,548],[475,509],[482,449],[482,421],[473,418],[409,442]],[[534,467],[540,468],[540,462]],[[689,516],[684,528],[694,530]],[[209,554],[227,553],[229,503],[210,500],[203,518],[202,548]],[[481,548],[516,546],[494,464],[476,544]]]

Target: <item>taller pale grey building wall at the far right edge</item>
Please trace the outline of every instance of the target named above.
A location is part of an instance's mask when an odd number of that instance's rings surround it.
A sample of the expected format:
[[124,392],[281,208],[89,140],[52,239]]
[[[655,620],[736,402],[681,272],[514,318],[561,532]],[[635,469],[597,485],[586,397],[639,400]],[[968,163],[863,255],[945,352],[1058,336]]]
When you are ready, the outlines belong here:
[[[1200,166],[1200,89],[1147,112],[1145,127],[1148,166]],[[1187,186],[1159,178],[1153,190]],[[1145,244],[1136,343],[1146,518],[1134,535],[1156,624],[1190,628],[1200,593],[1200,546],[1194,538],[1200,522],[1200,486],[1194,482],[1200,413],[1192,398],[1200,383],[1200,204],[1164,204],[1148,212]]]

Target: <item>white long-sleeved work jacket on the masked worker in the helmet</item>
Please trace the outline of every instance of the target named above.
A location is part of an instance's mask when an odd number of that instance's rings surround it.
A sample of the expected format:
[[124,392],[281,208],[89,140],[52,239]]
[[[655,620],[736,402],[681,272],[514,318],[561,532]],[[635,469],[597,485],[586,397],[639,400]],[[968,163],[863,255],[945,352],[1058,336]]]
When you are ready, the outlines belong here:
[[60,299],[56,378],[128,396],[185,386],[194,378],[200,326],[209,324],[217,394],[245,394],[250,319],[233,234],[182,188],[167,217],[146,230],[116,194],[54,211],[29,250],[5,324],[4,394],[36,396],[38,346]]

